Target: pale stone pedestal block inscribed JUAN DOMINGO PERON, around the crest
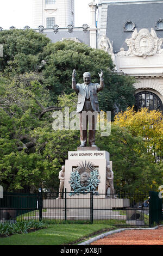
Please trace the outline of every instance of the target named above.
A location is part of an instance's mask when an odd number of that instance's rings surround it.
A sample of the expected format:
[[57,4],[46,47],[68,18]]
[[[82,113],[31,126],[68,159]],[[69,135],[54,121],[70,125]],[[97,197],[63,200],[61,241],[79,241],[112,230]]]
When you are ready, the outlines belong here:
[[[90,150],[91,149],[91,150]],[[96,188],[96,191],[99,193],[100,198],[105,198],[105,184],[106,184],[106,165],[110,164],[112,168],[112,164],[109,160],[109,153],[107,151],[101,151],[97,150],[97,148],[92,147],[85,147],[85,148],[79,148],[78,151],[68,151],[68,160],[66,160],[65,163],[65,188],[67,192],[71,192],[71,186],[70,186],[70,175],[72,173],[72,170],[79,165],[79,163],[82,164],[82,162],[85,163],[93,163],[99,174],[99,184]],[[67,194],[67,197],[70,197]],[[79,194],[71,196],[75,198],[87,198],[89,197],[89,194]]]

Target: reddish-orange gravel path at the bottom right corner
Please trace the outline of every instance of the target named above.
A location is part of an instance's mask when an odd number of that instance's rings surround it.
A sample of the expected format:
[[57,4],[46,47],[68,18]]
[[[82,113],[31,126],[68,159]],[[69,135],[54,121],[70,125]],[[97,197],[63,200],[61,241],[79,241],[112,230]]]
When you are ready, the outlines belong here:
[[163,227],[153,230],[124,230],[90,245],[163,245]]

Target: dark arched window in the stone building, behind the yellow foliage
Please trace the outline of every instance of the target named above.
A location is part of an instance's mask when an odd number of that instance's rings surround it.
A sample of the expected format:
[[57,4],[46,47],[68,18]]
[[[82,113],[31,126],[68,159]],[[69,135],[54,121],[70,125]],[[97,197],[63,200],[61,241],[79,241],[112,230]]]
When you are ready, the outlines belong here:
[[142,107],[147,107],[149,110],[163,111],[163,105],[158,95],[152,92],[140,92],[135,95],[135,110],[138,111]]

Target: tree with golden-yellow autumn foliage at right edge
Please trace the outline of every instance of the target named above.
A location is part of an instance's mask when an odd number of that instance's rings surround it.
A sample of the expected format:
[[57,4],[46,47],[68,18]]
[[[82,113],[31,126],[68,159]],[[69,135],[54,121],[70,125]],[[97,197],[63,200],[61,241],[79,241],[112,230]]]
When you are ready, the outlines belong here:
[[148,111],[141,108],[135,112],[134,107],[115,116],[114,124],[126,127],[134,137],[142,136],[146,149],[162,159],[163,121],[160,111]]

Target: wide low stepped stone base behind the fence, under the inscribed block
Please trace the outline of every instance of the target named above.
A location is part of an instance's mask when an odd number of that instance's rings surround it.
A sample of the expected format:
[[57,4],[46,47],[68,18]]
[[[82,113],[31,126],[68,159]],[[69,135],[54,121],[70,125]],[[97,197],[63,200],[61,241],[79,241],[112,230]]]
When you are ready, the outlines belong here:
[[[94,196],[93,220],[126,221],[126,215],[121,215],[119,209],[125,209],[128,206],[129,199],[107,199]],[[42,212],[43,218],[65,220],[65,199],[43,200],[43,208],[46,209]],[[66,219],[90,220],[90,208],[90,198],[68,198],[66,200]],[[39,218],[39,212],[36,214],[36,218]]]

